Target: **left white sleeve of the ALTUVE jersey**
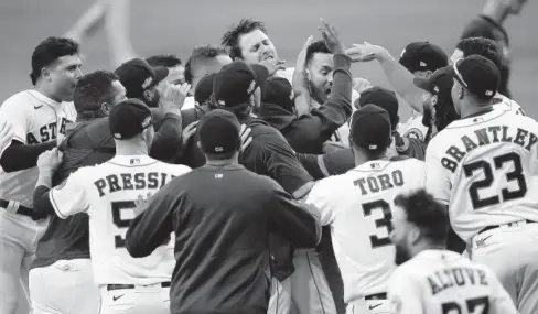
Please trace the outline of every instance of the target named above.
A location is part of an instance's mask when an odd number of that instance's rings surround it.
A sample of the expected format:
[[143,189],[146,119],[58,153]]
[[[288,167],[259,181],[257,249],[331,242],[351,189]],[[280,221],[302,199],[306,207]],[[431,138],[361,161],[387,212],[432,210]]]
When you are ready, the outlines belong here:
[[392,273],[388,286],[388,302],[395,314],[426,314],[422,308],[420,284],[400,268]]

